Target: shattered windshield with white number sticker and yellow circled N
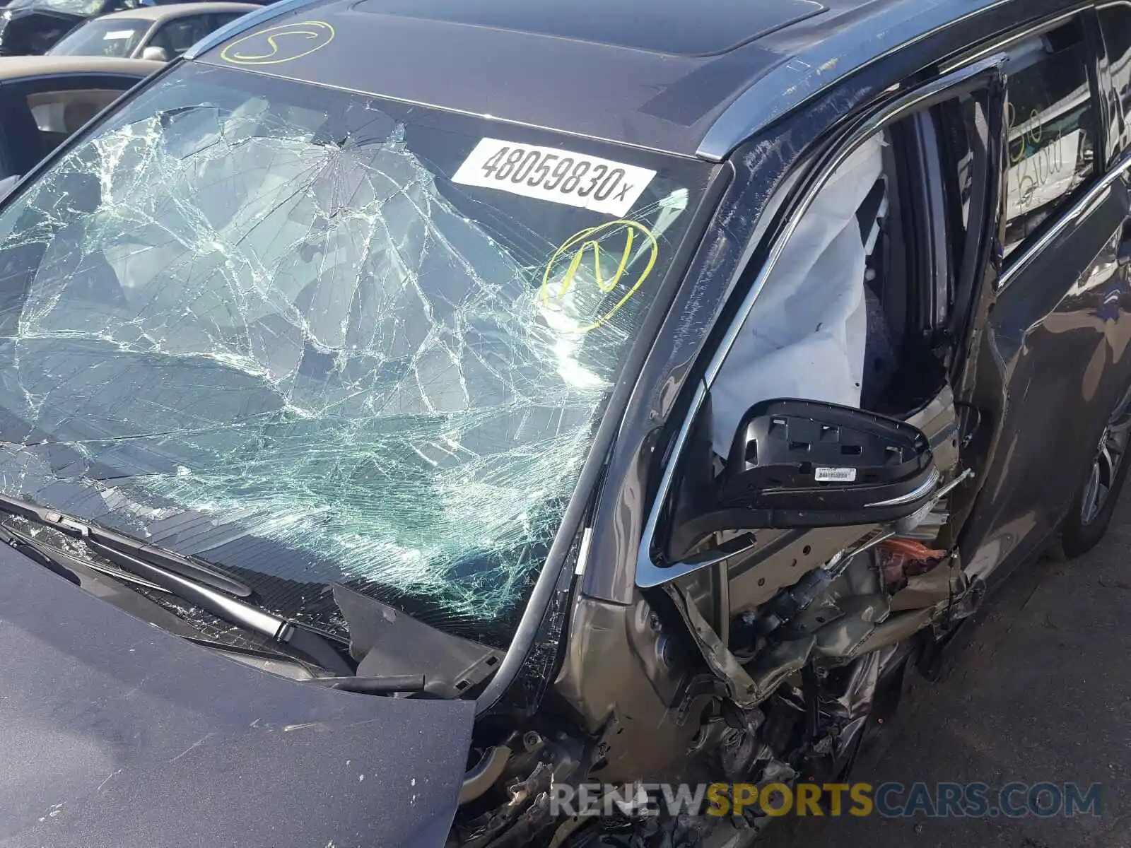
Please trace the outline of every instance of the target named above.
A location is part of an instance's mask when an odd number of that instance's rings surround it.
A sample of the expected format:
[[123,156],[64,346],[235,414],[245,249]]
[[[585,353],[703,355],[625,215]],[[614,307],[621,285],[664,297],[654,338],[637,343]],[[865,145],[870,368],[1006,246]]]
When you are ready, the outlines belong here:
[[0,213],[0,491],[508,639],[709,173],[183,64]]

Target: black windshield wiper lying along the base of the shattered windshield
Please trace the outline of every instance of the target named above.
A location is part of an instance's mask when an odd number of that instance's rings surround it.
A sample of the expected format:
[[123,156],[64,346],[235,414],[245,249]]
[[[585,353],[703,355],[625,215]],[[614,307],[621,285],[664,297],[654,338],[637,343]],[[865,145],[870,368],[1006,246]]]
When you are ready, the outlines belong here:
[[[105,557],[118,568],[143,578],[155,587],[167,591],[174,597],[187,600],[206,613],[215,615],[217,618],[245,630],[261,633],[279,644],[285,644],[334,674],[346,676],[354,674],[354,669],[345,661],[327,637],[313,630],[307,630],[278,615],[268,613],[245,600],[230,597],[222,591],[217,591],[211,586],[205,586],[204,580],[199,579],[195,572],[199,569],[200,572],[207,574],[213,580],[221,578],[222,581],[226,581],[227,578],[224,574],[214,573],[210,569],[206,569],[191,560],[185,560],[178,554],[154,548],[152,545],[146,545],[137,539],[130,539],[128,536],[106,533],[55,510],[45,509],[34,503],[8,497],[7,495],[0,495],[0,511],[26,518],[29,521],[36,521],[68,536],[79,538],[90,551]],[[126,543],[124,545],[122,544],[123,542]],[[41,555],[50,556],[43,550],[50,548],[50,545],[36,544],[35,546],[38,548]],[[129,552],[122,550],[126,546],[133,550]],[[158,559],[162,560],[161,564],[153,561]],[[164,562],[165,560],[172,560],[182,571],[169,568]],[[185,576],[184,571],[192,573],[192,578]],[[105,569],[103,569],[103,573],[106,573]],[[232,582],[236,581],[233,580]],[[244,595],[250,594],[250,589],[247,589],[244,592]]]

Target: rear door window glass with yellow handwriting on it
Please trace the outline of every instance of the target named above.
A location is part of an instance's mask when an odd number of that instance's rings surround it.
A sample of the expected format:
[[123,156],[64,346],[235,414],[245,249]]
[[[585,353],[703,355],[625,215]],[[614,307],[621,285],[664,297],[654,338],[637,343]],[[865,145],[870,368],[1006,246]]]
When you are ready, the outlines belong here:
[[1079,20],[1010,51],[1005,256],[1095,173],[1097,124],[1087,67]]

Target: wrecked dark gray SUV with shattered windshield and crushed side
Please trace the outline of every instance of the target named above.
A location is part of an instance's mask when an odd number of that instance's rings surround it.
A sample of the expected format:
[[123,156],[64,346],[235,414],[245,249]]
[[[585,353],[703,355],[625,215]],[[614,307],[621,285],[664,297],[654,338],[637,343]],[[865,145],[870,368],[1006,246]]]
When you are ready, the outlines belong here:
[[555,799],[844,780],[1111,520],[1128,33],[283,0],[138,85],[0,202],[0,842],[737,846]]

